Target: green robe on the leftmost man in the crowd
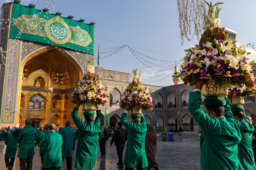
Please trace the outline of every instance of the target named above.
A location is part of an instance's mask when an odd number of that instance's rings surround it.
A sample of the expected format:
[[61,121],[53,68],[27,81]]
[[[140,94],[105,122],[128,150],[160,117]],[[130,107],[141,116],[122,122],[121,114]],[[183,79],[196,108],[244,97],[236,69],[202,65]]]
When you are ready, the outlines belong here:
[[5,138],[5,158],[15,158],[18,142],[16,141],[16,138],[12,136],[11,133],[9,133]]

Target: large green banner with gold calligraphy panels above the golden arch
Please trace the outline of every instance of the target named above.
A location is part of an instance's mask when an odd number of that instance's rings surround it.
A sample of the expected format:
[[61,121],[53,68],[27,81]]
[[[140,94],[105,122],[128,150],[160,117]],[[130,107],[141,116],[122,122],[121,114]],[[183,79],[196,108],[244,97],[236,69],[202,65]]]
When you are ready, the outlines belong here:
[[74,19],[13,4],[10,39],[53,44],[94,54],[94,26]]

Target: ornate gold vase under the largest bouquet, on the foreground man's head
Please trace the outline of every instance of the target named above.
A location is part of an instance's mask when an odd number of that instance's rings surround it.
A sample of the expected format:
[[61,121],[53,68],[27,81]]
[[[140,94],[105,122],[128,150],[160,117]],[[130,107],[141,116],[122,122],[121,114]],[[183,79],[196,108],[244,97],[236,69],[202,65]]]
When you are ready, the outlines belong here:
[[215,79],[209,79],[202,87],[202,95],[206,98],[225,98],[228,96],[228,87]]

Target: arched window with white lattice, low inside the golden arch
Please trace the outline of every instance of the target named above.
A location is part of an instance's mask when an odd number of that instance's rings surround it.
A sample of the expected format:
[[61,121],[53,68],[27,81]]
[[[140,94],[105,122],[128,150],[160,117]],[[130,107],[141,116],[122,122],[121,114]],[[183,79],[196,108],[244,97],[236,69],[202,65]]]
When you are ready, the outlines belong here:
[[28,101],[28,110],[29,111],[38,111],[43,110],[45,108],[45,100],[40,95],[34,95]]

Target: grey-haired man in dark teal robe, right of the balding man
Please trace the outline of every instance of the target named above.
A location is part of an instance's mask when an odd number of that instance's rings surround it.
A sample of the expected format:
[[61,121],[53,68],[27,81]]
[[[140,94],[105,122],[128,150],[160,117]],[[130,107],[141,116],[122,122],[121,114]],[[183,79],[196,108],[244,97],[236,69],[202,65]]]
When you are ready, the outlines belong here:
[[66,157],[67,170],[72,169],[73,141],[76,140],[74,129],[70,127],[71,121],[65,121],[65,128],[60,129],[59,134],[62,136],[62,162]]

